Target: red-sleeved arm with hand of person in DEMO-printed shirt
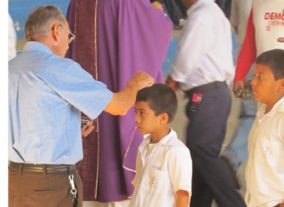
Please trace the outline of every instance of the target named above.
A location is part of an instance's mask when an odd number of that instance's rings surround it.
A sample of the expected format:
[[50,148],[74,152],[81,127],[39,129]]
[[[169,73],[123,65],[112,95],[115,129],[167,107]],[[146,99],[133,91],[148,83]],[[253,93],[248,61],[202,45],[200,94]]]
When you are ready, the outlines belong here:
[[256,35],[253,26],[253,10],[249,15],[249,20],[246,26],[246,36],[244,43],[241,46],[239,57],[236,62],[236,74],[234,78],[233,91],[244,89],[244,77],[248,74],[251,65],[256,61]]

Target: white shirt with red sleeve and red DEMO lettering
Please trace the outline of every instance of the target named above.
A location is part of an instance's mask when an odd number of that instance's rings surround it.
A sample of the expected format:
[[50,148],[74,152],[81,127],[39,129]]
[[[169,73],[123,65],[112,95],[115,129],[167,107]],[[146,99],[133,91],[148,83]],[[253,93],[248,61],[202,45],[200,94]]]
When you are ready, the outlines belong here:
[[273,49],[284,50],[284,1],[254,0],[234,79],[243,80],[256,57]]

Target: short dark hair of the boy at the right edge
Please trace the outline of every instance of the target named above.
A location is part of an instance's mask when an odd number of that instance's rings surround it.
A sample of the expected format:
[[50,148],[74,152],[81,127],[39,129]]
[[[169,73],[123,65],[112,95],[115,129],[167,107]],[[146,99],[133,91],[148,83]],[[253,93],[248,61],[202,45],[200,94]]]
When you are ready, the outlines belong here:
[[256,64],[269,67],[275,80],[284,78],[284,50],[275,49],[263,52],[256,58]]

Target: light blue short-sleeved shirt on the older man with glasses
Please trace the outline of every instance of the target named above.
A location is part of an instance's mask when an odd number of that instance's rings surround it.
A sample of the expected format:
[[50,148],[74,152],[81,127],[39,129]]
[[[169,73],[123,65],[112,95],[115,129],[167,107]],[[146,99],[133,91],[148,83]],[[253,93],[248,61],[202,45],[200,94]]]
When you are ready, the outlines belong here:
[[97,118],[112,98],[76,62],[28,42],[9,62],[9,160],[75,164],[82,160],[82,111]]

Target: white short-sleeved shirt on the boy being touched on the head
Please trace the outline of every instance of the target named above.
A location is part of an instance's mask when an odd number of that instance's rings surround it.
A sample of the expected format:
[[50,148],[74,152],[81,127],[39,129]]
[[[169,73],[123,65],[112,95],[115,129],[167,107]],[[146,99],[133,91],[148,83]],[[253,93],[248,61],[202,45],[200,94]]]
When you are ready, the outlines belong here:
[[150,136],[138,148],[135,186],[130,206],[175,206],[178,190],[191,194],[190,150],[171,130],[160,142],[149,144]]

